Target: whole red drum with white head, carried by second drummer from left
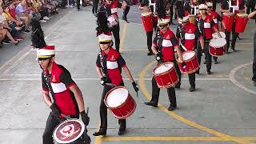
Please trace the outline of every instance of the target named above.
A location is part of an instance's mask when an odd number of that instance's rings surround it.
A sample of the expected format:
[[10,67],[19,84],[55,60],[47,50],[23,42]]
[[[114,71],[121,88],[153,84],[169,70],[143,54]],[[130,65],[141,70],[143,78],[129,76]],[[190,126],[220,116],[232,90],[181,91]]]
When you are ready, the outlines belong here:
[[136,109],[136,102],[125,86],[116,86],[107,92],[104,102],[114,117],[118,119],[128,118]]

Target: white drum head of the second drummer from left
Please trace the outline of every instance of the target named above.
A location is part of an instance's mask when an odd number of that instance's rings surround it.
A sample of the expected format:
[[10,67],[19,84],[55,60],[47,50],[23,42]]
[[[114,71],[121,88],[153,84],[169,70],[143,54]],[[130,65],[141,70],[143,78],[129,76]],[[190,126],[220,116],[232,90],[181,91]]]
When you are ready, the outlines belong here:
[[111,90],[110,93],[106,97],[106,106],[107,107],[118,107],[121,106],[126,99],[128,98],[128,90],[125,87],[118,87]]

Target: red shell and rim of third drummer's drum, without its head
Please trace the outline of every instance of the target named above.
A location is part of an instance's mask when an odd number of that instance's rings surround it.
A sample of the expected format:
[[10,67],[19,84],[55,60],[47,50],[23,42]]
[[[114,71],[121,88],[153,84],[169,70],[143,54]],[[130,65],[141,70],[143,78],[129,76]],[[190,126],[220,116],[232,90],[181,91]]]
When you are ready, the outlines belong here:
[[162,72],[161,74],[154,74],[154,79],[157,82],[159,88],[170,88],[172,86],[175,86],[178,83],[178,75],[174,68],[173,62],[165,62],[163,64],[160,64],[156,66],[154,70],[156,70],[159,66],[162,66],[168,63],[173,64],[173,67],[170,68],[170,70]]

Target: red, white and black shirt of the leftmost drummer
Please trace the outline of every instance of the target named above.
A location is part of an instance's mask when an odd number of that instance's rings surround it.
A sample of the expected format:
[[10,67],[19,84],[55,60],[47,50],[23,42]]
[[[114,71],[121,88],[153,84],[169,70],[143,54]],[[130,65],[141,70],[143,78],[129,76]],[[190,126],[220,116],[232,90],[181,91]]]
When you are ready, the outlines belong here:
[[46,72],[42,72],[42,90],[50,91],[52,89],[54,103],[58,109],[65,115],[78,115],[78,103],[74,98],[74,93],[69,89],[70,86],[76,86],[71,78],[70,72],[64,66],[55,62],[50,74],[50,82],[47,82]]

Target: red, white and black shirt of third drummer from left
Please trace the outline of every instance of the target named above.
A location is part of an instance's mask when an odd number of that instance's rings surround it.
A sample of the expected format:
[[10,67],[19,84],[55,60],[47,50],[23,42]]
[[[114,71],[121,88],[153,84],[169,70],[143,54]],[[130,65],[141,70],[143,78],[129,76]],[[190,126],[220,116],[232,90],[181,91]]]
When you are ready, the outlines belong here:
[[163,62],[174,61],[174,46],[178,46],[178,40],[174,33],[167,28],[166,32],[158,32],[154,38],[154,45],[157,46],[158,52],[162,54]]

